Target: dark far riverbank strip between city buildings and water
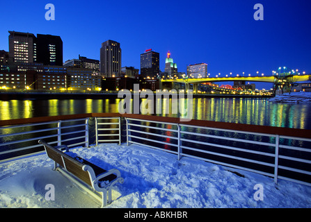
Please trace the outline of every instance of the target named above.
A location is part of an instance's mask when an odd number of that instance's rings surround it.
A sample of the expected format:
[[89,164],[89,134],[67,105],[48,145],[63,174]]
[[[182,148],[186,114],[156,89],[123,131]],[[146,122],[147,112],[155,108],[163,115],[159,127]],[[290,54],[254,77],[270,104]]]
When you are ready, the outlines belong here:
[[[186,98],[186,94],[184,95]],[[193,94],[193,98],[270,98],[258,95],[230,94]],[[117,99],[118,93],[78,93],[78,92],[0,92],[1,101],[10,100],[47,100],[47,99]]]

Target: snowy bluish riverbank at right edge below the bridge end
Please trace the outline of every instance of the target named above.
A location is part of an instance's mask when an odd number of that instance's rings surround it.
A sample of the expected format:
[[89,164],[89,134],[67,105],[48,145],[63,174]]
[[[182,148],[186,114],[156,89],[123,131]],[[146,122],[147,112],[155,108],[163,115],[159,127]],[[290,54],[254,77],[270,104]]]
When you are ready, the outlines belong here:
[[269,99],[277,103],[311,103],[311,92],[287,92]]

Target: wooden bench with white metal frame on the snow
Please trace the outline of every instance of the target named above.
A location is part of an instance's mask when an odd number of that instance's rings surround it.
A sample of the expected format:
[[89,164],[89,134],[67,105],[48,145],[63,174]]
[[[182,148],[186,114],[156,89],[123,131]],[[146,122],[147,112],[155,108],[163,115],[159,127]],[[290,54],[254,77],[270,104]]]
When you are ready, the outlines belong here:
[[[111,187],[116,182],[124,182],[123,178],[121,178],[120,171],[117,169],[106,171],[87,160],[83,160],[81,157],[71,157],[58,149],[63,147],[68,152],[67,146],[54,147],[42,139],[38,142],[45,146],[47,156],[51,160],[54,160],[54,170],[60,171],[64,176],[88,191],[89,194],[101,200],[102,207],[112,202]],[[102,196],[99,196],[97,192],[102,193]]]

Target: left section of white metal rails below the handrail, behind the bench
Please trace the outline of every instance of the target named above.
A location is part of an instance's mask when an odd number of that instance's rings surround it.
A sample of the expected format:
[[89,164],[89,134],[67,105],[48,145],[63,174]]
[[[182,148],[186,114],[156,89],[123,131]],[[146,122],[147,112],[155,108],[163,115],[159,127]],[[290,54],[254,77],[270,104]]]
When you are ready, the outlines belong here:
[[55,146],[89,146],[88,118],[2,126],[0,132],[0,156],[5,160],[40,153],[42,145],[38,144],[39,139]]

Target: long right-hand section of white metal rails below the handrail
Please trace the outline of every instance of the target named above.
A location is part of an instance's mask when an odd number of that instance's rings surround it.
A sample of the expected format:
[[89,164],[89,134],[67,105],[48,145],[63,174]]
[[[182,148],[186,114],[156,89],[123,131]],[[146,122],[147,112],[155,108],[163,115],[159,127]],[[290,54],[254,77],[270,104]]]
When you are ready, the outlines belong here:
[[[311,186],[311,148],[301,147],[310,147],[310,138],[134,118],[126,118],[126,123],[127,144],[174,153],[178,160],[193,157],[260,173],[274,178],[276,183],[283,179]],[[287,145],[285,139],[289,140]],[[293,142],[301,146],[288,145]],[[292,157],[285,150],[302,153]]]

